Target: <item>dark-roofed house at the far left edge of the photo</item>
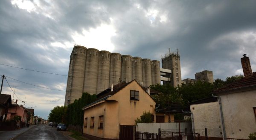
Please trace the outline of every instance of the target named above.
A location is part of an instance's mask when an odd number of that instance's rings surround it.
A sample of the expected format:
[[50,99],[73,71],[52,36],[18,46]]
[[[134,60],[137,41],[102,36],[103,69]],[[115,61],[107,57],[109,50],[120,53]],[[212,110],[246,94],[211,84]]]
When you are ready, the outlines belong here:
[[12,107],[12,97],[8,94],[0,94],[0,121],[6,120],[8,109]]

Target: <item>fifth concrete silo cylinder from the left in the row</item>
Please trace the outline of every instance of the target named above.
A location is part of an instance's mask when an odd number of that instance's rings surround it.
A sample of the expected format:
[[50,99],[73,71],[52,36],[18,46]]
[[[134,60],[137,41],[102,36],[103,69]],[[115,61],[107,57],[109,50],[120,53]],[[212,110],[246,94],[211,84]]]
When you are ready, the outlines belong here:
[[131,61],[132,56],[122,55],[121,57],[121,80],[129,82],[131,81]]

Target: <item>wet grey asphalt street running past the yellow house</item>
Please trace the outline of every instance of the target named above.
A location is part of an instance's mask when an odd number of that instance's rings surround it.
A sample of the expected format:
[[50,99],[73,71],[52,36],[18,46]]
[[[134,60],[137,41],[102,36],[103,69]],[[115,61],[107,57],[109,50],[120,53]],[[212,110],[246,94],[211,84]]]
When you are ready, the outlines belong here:
[[73,138],[68,137],[64,132],[57,131],[56,127],[37,125],[14,140],[73,140]]

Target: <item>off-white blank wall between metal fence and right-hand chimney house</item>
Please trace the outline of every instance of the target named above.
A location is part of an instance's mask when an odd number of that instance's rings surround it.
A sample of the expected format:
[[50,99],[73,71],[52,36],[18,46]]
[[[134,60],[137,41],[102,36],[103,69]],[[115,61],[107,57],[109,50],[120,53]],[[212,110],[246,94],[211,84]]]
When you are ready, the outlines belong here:
[[195,133],[205,136],[204,128],[207,128],[209,137],[223,137],[218,102],[193,104],[190,110],[193,113]]

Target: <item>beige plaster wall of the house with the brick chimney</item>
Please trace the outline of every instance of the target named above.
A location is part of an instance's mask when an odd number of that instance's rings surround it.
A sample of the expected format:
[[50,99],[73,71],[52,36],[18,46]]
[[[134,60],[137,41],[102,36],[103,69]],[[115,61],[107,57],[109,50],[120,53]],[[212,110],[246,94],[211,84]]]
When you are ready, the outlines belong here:
[[256,90],[220,95],[228,138],[247,139],[256,132]]

